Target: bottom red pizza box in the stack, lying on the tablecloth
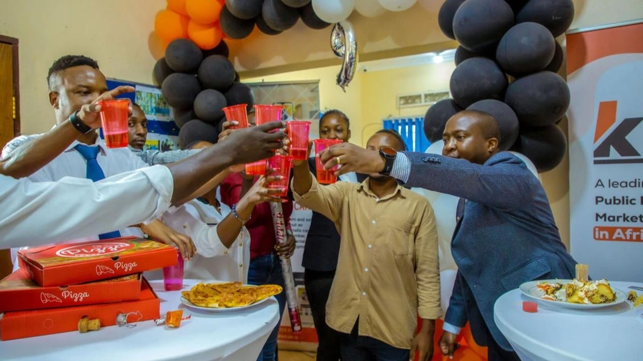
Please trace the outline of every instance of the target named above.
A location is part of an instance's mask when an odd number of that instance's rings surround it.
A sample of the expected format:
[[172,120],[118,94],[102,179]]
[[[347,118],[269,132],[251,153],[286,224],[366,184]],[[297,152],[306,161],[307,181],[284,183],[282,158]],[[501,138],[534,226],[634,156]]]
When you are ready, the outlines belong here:
[[0,314],[0,340],[24,339],[61,332],[78,332],[82,317],[100,319],[100,326],[114,326],[118,314],[133,314],[127,317],[130,323],[159,318],[161,302],[147,280],[141,284],[141,299],[105,305],[49,308],[47,310],[16,311]]

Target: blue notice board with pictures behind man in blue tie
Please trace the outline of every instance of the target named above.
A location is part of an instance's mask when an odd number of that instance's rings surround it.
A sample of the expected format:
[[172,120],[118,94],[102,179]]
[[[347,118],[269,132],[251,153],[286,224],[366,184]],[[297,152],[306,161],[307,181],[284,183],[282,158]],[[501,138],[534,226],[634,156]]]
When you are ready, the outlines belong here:
[[[129,85],[136,89],[133,93],[122,94],[138,104],[147,118],[147,141],[143,149],[159,151],[175,150],[179,144],[179,127],[170,113],[170,106],[161,96],[161,89],[154,85],[134,83],[132,81],[108,79],[107,88],[110,90],[120,85]],[[101,133],[102,137],[102,133]]]

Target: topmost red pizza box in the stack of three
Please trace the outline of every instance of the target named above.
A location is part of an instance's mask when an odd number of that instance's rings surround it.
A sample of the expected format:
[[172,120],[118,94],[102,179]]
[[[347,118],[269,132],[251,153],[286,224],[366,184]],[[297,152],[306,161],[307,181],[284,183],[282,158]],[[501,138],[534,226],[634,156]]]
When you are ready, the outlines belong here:
[[75,285],[177,264],[177,250],[153,240],[115,238],[18,251],[20,267],[41,287]]

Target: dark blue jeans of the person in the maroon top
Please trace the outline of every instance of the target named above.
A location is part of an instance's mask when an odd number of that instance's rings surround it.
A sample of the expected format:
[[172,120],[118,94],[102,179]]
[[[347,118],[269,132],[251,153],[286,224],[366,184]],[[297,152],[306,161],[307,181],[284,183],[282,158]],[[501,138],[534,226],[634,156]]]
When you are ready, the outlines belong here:
[[[251,259],[248,267],[248,283],[251,285],[272,284],[284,287],[284,273],[282,273],[279,256],[272,253]],[[284,314],[285,292],[281,292],[276,295],[275,298],[279,303],[279,323],[268,336],[257,361],[276,361],[277,337],[279,334],[279,326],[281,326],[281,315]]]

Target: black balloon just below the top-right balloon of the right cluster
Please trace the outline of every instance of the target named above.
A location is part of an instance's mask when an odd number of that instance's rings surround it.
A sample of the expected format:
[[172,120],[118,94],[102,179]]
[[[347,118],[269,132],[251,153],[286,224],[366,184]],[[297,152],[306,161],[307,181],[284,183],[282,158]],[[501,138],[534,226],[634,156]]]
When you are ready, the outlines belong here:
[[509,29],[500,40],[496,60],[511,76],[538,72],[552,61],[556,40],[536,22],[522,22]]

